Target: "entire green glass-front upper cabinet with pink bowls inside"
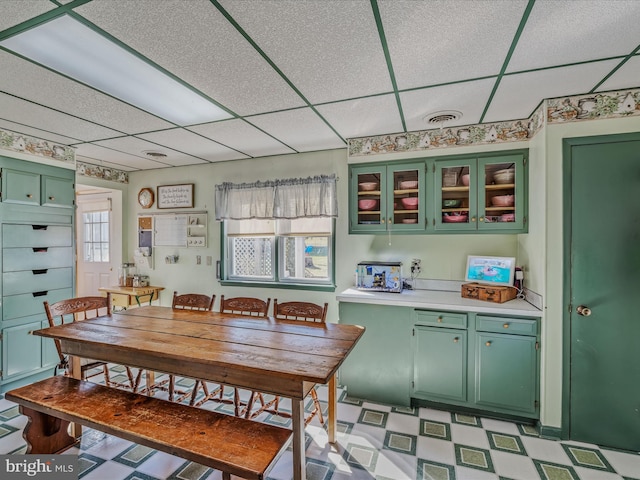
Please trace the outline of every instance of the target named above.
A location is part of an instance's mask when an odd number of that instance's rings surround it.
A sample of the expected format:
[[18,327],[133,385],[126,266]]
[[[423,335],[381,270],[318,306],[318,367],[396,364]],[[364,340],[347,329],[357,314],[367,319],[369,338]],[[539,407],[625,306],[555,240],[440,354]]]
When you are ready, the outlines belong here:
[[351,165],[349,232],[526,233],[527,160],[510,150]]

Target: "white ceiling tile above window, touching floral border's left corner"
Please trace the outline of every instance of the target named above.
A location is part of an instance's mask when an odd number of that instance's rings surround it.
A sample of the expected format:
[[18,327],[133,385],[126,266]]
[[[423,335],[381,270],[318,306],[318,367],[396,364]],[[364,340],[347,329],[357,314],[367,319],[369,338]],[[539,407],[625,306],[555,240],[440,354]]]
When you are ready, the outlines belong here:
[[298,152],[346,146],[310,108],[257,115],[247,120]]

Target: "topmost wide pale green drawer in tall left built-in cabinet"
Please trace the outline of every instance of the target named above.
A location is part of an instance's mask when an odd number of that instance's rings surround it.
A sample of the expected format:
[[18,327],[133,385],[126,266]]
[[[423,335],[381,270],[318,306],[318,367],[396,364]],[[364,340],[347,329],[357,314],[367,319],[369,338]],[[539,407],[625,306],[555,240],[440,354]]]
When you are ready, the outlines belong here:
[[3,225],[2,246],[4,248],[70,247],[72,245],[71,225]]

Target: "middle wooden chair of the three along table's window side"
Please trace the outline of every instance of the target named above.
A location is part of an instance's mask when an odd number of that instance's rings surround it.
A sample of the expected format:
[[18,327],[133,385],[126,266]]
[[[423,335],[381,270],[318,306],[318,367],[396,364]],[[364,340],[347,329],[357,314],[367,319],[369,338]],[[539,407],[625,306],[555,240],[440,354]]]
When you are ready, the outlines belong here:
[[[252,317],[267,318],[269,312],[269,305],[271,299],[267,298],[266,301],[260,298],[253,297],[233,297],[224,298],[224,295],[220,296],[220,313],[235,313],[238,315],[248,315]],[[257,399],[260,402],[261,408],[270,406],[266,403],[262,393],[252,391],[249,395],[249,402],[244,404],[240,399],[240,389],[233,387],[233,399],[225,398],[224,390],[225,385],[220,384],[213,392],[207,393],[206,382],[200,381],[194,388],[193,395],[191,397],[190,405],[199,407],[208,401],[233,404],[233,413],[235,416],[248,417],[251,413],[252,406]],[[198,402],[195,401],[197,396],[197,387],[202,386],[205,391],[205,396]],[[273,400],[275,401],[275,399]],[[242,407],[245,407],[244,410]]]

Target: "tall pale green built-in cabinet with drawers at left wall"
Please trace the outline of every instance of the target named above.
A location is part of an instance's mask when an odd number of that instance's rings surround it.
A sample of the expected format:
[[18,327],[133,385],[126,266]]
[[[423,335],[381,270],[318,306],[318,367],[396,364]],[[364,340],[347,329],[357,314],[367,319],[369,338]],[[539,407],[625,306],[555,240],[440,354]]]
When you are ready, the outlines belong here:
[[75,292],[75,170],[0,156],[0,392],[54,373],[43,302]]

